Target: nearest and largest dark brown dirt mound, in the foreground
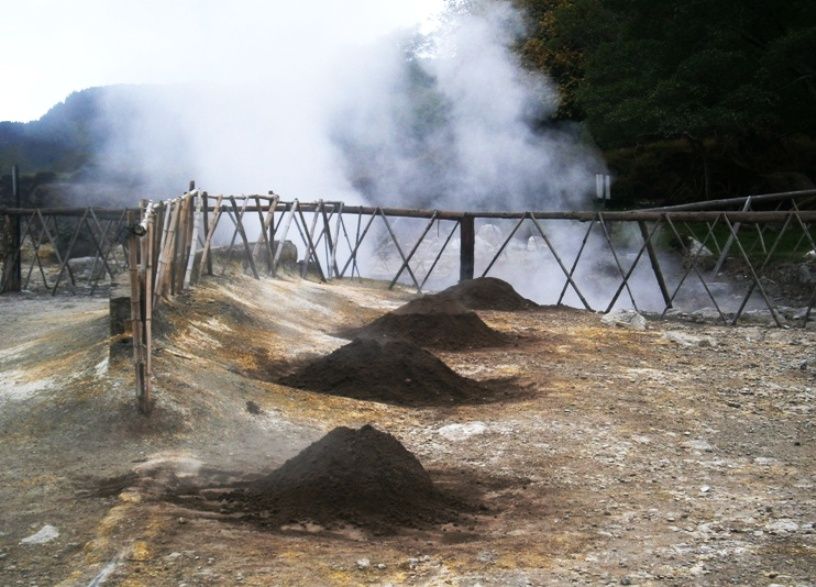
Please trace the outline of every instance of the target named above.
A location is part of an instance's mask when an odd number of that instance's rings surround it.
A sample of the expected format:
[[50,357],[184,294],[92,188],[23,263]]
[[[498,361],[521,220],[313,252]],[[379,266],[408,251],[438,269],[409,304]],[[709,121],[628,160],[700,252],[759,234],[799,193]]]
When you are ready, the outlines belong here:
[[335,428],[223,501],[272,526],[312,522],[390,532],[455,518],[417,458],[372,426]]

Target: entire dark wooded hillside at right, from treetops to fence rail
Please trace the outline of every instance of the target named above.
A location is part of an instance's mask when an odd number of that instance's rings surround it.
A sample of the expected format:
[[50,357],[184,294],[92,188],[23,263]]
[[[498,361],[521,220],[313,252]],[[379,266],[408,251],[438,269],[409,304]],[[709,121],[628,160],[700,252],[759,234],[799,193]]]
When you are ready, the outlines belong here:
[[[616,197],[680,201],[812,185],[816,3],[516,0],[525,64],[586,121]],[[620,201],[620,200],[619,200]]]

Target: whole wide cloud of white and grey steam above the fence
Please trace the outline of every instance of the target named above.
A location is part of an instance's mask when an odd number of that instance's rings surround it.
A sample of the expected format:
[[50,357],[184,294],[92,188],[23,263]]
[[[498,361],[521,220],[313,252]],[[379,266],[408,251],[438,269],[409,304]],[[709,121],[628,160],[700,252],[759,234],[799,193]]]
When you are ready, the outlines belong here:
[[[211,193],[265,193],[460,209],[579,204],[603,165],[574,133],[535,129],[553,88],[511,45],[522,18],[507,3],[309,50],[275,38],[251,50],[178,56],[206,84],[113,88],[98,166],[171,195],[195,178]],[[307,34],[305,31],[303,34]],[[236,59],[241,59],[237,62]]]

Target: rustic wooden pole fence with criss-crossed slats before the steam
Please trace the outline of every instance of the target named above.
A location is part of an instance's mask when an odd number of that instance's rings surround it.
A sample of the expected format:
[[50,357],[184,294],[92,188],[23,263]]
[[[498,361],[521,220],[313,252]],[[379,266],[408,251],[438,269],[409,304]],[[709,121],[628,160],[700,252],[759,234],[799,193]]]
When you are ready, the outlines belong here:
[[[713,210],[703,203],[699,209],[681,206],[629,212],[458,212],[347,206],[336,201],[285,202],[274,193],[209,196],[191,185],[178,198],[143,201],[132,209],[0,209],[2,236],[11,236],[2,286],[3,291],[94,293],[103,281],[127,274],[139,407],[148,413],[153,320],[162,301],[217,273],[238,270],[256,279],[274,277],[289,239],[303,251],[296,255],[301,275],[312,273],[323,281],[364,274],[381,277],[363,267],[370,256],[362,251],[385,247],[396,260],[386,276],[390,286],[403,283],[421,292],[434,272],[439,272],[443,256],[450,257],[453,243],[458,245],[458,252],[454,247],[455,278],[487,276],[495,274],[508,248],[526,230],[540,244],[536,263],[549,264],[550,281],[553,275],[561,280],[553,299],[546,300],[549,303],[571,300],[572,305],[608,312],[626,300],[626,305],[638,309],[639,288],[646,287],[659,292],[660,313],[665,316],[673,311],[678,294],[696,279],[704,300],[712,304],[714,316],[723,323],[738,323],[749,300],[758,297],[768,319],[777,325],[807,326],[816,303],[816,281],[798,314],[786,321],[784,309],[767,291],[766,274],[783,251],[785,258],[804,258],[808,251],[816,250],[812,229],[816,211],[801,205],[814,194],[816,191],[724,200],[716,202]],[[486,253],[476,242],[488,223],[501,239]],[[429,243],[434,227],[437,236]],[[565,232],[570,235],[566,240],[559,236]],[[625,242],[621,234],[629,235]],[[595,249],[589,253],[593,239]],[[677,248],[667,253],[668,241]],[[80,242],[84,252],[91,253],[85,258],[82,276],[77,275],[75,264]],[[418,252],[423,247],[429,254],[419,263]],[[582,268],[591,260],[587,257],[597,256],[601,248],[608,255],[612,277],[605,297],[593,301],[588,289],[597,288],[597,278],[591,267],[583,273]],[[707,265],[703,251],[708,251]],[[679,270],[667,275],[671,256],[684,261]],[[722,307],[712,288],[726,260],[738,263],[747,279],[744,296],[734,310]],[[525,267],[525,272],[533,269],[532,265]],[[648,282],[635,282],[636,273],[643,271],[650,276]]]

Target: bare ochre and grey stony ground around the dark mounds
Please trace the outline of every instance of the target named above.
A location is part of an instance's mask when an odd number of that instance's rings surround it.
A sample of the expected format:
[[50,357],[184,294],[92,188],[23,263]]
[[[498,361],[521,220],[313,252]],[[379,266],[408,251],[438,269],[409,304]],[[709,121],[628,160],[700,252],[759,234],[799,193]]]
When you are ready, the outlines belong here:
[[[0,585],[814,584],[816,332],[479,312],[518,343],[436,354],[513,378],[512,401],[407,408],[271,382],[409,298],[213,279],[164,307],[149,419],[129,347],[108,360],[106,300],[0,298]],[[367,423],[484,507],[371,536],[161,497]],[[46,524],[59,536],[21,543]]]

